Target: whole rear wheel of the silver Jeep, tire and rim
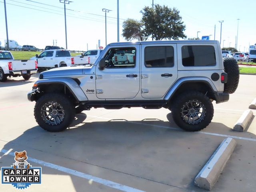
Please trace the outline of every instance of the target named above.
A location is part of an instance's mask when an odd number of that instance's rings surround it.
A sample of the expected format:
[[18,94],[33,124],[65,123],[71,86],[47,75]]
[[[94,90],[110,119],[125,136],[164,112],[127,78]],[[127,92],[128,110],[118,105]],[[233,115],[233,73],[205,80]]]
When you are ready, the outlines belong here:
[[214,109],[210,99],[197,91],[185,92],[172,102],[174,122],[186,131],[199,131],[210,124]]

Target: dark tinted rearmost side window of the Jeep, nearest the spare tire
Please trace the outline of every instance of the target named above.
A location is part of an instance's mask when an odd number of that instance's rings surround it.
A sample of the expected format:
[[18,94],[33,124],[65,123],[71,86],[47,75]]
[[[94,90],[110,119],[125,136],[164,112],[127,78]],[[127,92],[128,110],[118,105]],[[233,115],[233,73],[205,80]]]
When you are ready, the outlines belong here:
[[183,66],[214,66],[216,56],[213,46],[192,45],[182,46]]

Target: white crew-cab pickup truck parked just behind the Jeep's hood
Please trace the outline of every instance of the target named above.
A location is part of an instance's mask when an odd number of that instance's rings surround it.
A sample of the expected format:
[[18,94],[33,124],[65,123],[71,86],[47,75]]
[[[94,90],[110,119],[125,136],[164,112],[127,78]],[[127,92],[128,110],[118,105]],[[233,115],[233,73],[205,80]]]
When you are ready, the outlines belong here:
[[40,55],[36,54],[36,57],[30,59],[36,59],[38,62],[38,70],[66,67],[74,64],[74,58],[71,58],[68,50],[46,50]]

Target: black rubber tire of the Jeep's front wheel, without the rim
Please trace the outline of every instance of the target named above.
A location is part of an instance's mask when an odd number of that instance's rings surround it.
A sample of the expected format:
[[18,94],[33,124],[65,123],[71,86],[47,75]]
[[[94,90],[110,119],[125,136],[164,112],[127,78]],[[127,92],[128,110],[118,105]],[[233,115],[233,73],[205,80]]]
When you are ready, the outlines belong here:
[[[56,125],[47,124],[43,119],[42,108],[48,102],[56,102],[64,109],[64,118],[62,122]],[[34,116],[38,125],[49,132],[60,132],[68,128],[75,117],[75,108],[72,102],[64,95],[58,93],[48,93],[41,96],[34,107]]]

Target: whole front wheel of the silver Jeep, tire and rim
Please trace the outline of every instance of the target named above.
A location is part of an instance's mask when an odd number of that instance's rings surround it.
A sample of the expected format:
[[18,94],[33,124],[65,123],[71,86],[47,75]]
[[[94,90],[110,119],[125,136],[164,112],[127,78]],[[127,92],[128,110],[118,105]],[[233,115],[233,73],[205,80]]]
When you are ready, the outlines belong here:
[[49,93],[37,100],[34,116],[44,130],[60,132],[68,128],[74,120],[75,109],[65,95]]

